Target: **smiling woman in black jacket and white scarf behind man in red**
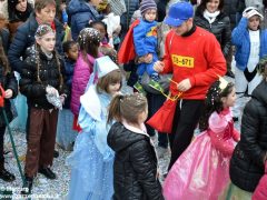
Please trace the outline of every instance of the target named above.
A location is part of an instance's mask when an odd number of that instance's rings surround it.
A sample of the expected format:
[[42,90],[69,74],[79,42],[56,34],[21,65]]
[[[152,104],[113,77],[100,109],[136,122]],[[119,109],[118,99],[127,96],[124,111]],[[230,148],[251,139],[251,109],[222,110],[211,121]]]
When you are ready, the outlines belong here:
[[221,51],[229,60],[227,62],[227,76],[234,78],[231,72],[231,27],[229,17],[222,11],[224,0],[202,0],[197,7],[195,23],[215,34],[220,43]]

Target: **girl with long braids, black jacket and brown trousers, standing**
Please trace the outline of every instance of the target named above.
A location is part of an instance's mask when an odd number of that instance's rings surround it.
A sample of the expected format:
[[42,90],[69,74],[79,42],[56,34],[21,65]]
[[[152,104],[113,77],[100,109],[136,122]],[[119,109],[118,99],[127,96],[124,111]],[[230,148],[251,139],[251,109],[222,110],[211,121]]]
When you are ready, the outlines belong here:
[[23,188],[31,193],[37,172],[56,179],[50,169],[53,161],[58,110],[69,90],[65,84],[65,67],[55,50],[56,32],[48,24],[40,24],[36,32],[32,54],[21,70],[20,91],[27,97],[30,109],[29,136],[26,154]]

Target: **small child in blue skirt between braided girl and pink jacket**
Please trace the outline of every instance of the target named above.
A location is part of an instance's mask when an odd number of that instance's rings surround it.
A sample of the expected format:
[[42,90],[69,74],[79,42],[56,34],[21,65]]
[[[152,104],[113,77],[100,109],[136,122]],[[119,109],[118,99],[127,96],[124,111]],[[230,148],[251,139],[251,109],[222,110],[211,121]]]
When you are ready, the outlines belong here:
[[[78,43],[75,41],[66,41],[62,47],[65,52],[66,83],[67,87],[71,89],[75,64],[78,59]],[[59,111],[58,117],[57,143],[65,150],[72,149],[77,137],[77,131],[72,129],[73,114],[70,111],[70,98],[71,93],[66,99],[63,109]]]

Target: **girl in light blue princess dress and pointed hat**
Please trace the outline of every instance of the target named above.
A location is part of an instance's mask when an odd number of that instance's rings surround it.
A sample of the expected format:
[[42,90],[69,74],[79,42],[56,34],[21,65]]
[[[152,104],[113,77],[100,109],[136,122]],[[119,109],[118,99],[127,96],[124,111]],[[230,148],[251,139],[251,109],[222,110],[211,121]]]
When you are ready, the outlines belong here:
[[120,91],[121,81],[122,73],[109,57],[96,59],[87,91],[80,98],[78,122],[82,131],[67,159],[67,164],[71,167],[70,200],[112,198],[115,153],[107,144],[111,126],[107,123],[107,109],[112,97]]

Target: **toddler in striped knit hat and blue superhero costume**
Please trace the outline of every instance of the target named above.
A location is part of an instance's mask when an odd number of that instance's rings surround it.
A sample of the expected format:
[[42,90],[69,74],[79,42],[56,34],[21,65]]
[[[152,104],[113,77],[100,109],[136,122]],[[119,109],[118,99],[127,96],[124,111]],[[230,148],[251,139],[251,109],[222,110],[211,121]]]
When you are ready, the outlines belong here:
[[134,86],[138,91],[142,91],[140,80],[145,72],[154,81],[159,80],[158,72],[154,70],[154,63],[158,61],[157,49],[157,4],[154,0],[142,0],[140,3],[142,19],[132,29],[135,51],[138,57],[137,74],[139,81]]

